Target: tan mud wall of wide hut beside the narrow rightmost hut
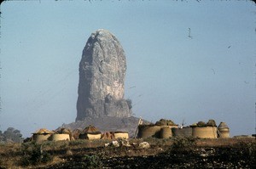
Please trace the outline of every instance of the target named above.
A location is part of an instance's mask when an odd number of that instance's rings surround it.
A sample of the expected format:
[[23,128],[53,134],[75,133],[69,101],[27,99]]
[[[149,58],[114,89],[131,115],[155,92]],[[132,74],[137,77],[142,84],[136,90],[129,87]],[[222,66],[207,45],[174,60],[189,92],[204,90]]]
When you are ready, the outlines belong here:
[[192,127],[195,138],[217,138],[217,127]]

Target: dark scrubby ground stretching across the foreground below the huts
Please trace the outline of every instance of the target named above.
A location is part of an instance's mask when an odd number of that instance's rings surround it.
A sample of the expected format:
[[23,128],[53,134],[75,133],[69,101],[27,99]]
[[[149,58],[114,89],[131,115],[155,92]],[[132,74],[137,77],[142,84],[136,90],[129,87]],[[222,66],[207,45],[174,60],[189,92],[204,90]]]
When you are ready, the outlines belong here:
[[0,168],[256,168],[255,138],[45,142],[39,144],[39,155],[47,153],[51,161],[24,166],[20,161],[32,146],[37,145],[0,145]]

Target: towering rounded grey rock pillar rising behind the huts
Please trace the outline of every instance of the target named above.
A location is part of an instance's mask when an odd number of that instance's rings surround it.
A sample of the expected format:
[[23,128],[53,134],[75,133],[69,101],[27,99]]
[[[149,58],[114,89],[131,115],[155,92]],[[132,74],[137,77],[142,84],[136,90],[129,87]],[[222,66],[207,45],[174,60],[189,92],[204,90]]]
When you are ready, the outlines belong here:
[[103,116],[129,117],[124,99],[125,52],[109,31],[92,33],[79,64],[76,121]]

